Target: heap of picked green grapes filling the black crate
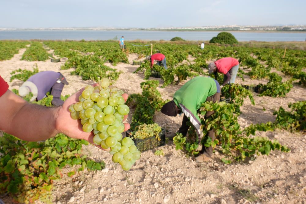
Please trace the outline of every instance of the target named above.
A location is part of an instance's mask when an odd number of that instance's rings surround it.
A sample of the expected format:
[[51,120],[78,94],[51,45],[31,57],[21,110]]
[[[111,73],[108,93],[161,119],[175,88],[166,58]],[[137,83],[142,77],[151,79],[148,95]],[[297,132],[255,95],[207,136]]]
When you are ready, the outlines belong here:
[[156,139],[160,140],[159,133],[162,131],[162,128],[156,124],[141,124],[136,128],[136,132],[134,132],[133,137],[137,139],[146,139],[149,137],[155,136]]

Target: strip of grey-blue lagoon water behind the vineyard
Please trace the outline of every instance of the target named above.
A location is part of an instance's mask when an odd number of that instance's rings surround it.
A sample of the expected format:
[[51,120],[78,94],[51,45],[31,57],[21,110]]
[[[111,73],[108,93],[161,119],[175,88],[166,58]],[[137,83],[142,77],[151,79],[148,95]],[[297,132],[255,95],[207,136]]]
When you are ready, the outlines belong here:
[[[170,40],[178,36],[185,40],[210,40],[217,31],[96,31],[96,30],[15,30],[0,31],[0,40]],[[238,41],[305,41],[306,32],[231,32]]]

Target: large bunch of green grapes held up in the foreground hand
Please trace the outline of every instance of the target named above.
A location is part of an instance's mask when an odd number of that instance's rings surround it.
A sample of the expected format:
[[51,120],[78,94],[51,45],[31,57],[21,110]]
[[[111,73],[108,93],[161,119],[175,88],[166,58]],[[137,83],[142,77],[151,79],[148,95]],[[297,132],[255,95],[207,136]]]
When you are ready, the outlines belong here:
[[83,131],[93,131],[94,143],[103,149],[110,148],[113,162],[127,171],[140,158],[140,151],[131,138],[122,139],[125,128],[122,121],[129,107],[124,104],[123,91],[109,85],[110,81],[103,78],[99,86],[86,86],[79,102],[70,105],[70,116],[74,120],[81,119]]

